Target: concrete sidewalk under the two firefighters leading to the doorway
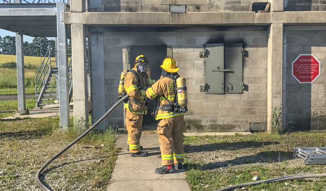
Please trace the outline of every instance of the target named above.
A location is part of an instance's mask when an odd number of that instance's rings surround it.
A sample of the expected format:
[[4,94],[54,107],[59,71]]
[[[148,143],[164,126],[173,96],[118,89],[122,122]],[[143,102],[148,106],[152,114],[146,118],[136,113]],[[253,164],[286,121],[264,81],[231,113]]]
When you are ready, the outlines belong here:
[[110,191],[190,191],[186,182],[185,170],[158,175],[155,169],[162,167],[157,134],[144,134],[141,138],[143,151],[147,157],[131,157],[127,151],[127,135],[119,135],[116,147],[122,148],[118,154],[116,166],[112,173],[111,184],[106,190]]

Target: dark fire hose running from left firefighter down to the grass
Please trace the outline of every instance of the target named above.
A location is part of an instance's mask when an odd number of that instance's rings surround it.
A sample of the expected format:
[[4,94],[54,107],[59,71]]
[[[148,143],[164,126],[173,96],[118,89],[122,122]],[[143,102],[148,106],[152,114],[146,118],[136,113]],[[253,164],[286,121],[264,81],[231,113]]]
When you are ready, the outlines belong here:
[[108,114],[110,114],[121,102],[123,102],[125,99],[127,99],[129,96],[125,95],[124,97],[122,97],[116,104],[114,104],[110,110],[108,110],[98,121],[96,121],[89,129],[87,129],[82,135],[80,135],[77,139],[75,139],[73,142],[71,142],[67,147],[65,147],[64,149],[62,149],[60,152],[58,152],[55,156],[53,156],[52,158],[50,158],[36,173],[35,175],[35,181],[37,183],[37,185],[40,186],[40,188],[42,188],[44,191],[50,191],[50,189],[48,189],[40,180],[40,175],[43,172],[43,170],[50,165],[50,163],[55,160],[56,158],[58,158],[58,156],[60,156],[62,153],[64,153],[66,150],[68,150],[72,145],[74,145],[75,143],[77,143],[77,141],[79,141],[80,139],[82,139],[87,133],[89,133],[94,127],[96,127],[96,125],[98,125]]

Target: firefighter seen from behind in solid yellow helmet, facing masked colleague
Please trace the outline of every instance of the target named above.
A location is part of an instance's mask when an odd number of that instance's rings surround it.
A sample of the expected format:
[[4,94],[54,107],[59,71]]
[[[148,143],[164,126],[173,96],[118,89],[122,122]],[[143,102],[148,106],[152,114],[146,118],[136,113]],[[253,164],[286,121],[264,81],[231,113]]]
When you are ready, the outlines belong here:
[[[150,99],[156,98],[158,107],[152,115],[155,116],[156,120],[160,120],[157,124],[157,134],[159,134],[159,148],[163,167],[157,168],[155,173],[166,174],[182,168],[183,114],[187,111],[187,108],[178,105],[177,92],[180,90],[181,93],[181,90],[183,90],[184,100],[187,100],[185,79],[178,75],[179,68],[176,67],[175,60],[167,57],[160,67],[162,68],[161,77],[152,87],[146,90],[146,96]],[[175,81],[178,78],[184,80],[184,88],[176,87],[177,83]],[[176,105],[179,107],[176,107]]]

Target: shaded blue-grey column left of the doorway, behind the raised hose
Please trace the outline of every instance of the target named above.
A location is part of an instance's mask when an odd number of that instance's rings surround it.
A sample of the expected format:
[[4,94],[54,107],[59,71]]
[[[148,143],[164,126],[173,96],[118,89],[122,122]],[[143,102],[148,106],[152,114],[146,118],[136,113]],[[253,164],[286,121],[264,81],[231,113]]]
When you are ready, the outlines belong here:
[[[91,34],[92,48],[92,123],[94,124],[105,114],[104,84],[104,37],[103,33]],[[106,120],[96,126],[98,130],[106,129]]]

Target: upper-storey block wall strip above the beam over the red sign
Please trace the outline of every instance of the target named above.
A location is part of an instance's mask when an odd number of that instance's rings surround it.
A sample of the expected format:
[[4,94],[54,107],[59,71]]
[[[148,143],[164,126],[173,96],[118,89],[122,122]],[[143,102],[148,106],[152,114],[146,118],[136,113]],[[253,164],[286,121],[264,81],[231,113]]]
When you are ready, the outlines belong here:
[[284,11],[326,11],[326,0],[284,0]]

